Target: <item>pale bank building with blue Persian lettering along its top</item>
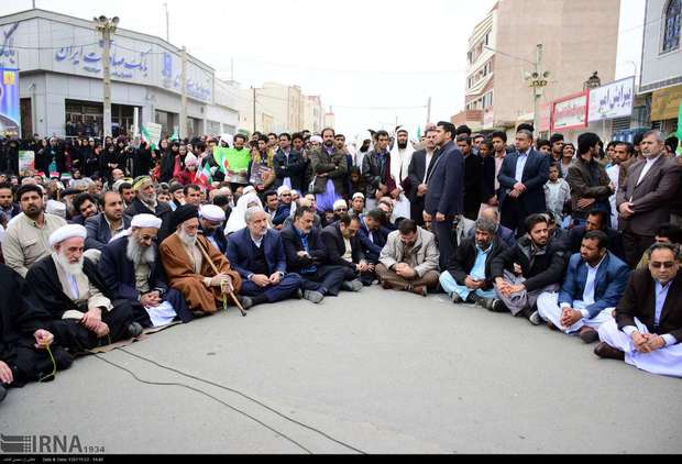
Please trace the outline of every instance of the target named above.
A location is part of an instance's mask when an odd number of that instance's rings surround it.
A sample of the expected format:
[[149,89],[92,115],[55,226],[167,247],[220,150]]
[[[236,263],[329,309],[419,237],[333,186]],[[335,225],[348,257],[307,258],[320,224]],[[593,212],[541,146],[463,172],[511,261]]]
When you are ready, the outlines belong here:
[[[94,22],[35,9],[0,18],[0,67],[20,70],[22,136],[102,135],[102,43]],[[142,124],[178,130],[180,69],[178,47],[118,29],[111,44],[113,134],[131,133],[135,109]],[[191,55],[186,95],[184,136],[239,124],[235,90]]]

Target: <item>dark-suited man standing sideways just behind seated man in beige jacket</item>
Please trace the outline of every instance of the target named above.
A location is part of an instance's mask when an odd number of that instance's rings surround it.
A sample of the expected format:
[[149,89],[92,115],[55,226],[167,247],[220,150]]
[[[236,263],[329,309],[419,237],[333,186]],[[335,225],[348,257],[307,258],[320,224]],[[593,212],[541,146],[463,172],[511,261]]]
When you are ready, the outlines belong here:
[[436,145],[440,155],[427,178],[425,221],[432,221],[431,228],[438,239],[440,268],[446,269],[452,254],[452,223],[454,217],[464,211],[464,158],[452,137],[455,129],[449,122],[439,122],[436,130]]

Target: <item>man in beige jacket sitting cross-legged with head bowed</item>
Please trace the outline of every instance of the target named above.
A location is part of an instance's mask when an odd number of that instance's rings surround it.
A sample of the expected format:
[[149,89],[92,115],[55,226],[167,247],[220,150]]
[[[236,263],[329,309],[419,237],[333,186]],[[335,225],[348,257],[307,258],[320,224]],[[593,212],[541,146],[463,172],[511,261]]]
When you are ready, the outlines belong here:
[[388,235],[376,275],[385,289],[426,297],[429,289],[438,286],[439,259],[436,235],[405,219],[398,230]]

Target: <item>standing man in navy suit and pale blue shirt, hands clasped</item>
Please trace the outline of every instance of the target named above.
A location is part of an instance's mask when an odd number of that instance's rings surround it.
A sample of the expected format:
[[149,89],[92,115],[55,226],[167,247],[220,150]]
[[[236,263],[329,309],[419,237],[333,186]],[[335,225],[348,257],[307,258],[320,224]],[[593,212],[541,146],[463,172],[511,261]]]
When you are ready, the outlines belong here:
[[526,233],[526,218],[547,210],[544,184],[549,180],[549,156],[532,148],[532,132],[518,131],[516,153],[505,157],[497,179],[502,224],[520,236]]

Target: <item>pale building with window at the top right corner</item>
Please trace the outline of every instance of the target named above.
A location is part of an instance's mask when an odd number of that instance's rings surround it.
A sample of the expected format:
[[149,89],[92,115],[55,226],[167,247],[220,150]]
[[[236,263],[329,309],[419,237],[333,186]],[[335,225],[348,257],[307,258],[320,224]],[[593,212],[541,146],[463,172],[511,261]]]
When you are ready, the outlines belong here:
[[647,1],[639,99],[651,126],[667,134],[676,131],[682,103],[681,27],[682,0]]

